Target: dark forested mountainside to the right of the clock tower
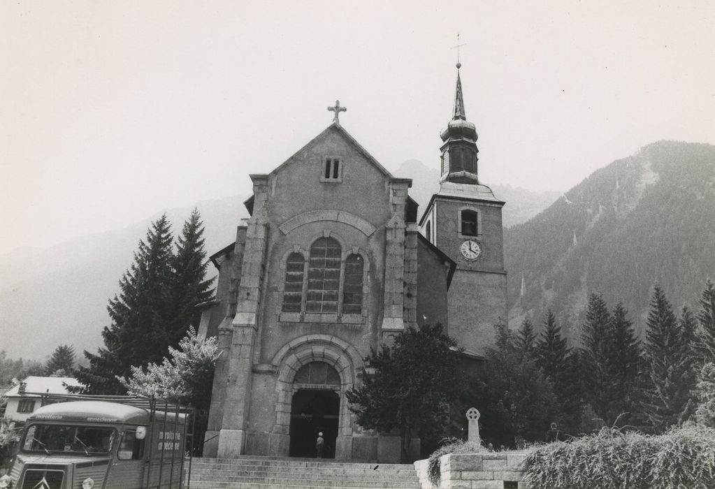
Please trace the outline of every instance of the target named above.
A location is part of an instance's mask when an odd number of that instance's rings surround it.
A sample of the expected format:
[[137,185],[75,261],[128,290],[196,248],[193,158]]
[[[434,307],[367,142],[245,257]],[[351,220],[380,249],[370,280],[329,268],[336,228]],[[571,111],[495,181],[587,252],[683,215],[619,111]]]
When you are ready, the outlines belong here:
[[641,332],[654,282],[679,307],[715,277],[715,147],[650,144],[505,229],[504,242],[511,325],[541,324],[551,307],[574,337],[588,293],[601,292]]

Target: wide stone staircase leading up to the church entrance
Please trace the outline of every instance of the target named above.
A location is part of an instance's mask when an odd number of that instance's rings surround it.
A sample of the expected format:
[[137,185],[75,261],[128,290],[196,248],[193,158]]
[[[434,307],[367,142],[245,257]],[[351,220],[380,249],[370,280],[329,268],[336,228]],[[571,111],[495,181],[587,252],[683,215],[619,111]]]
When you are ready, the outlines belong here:
[[194,458],[190,489],[419,489],[413,465],[315,458]]

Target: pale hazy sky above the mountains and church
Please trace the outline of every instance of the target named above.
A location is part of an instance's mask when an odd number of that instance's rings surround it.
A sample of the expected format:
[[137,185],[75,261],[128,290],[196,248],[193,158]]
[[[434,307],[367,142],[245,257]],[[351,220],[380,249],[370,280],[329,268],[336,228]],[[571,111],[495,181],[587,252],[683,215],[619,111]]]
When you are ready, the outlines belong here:
[[[715,143],[715,2],[0,2],[0,253],[250,195],[340,121],[438,167],[456,34],[487,184]],[[405,175],[399,175],[405,176]]]

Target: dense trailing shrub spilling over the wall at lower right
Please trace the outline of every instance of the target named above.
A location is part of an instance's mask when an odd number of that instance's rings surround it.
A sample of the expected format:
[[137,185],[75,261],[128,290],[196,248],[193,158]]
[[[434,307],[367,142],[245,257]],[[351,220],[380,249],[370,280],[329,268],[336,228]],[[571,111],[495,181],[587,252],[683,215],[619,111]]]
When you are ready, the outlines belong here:
[[715,430],[691,425],[651,436],[603,428],[533,449],[524,468],[534,489],[713,488]]

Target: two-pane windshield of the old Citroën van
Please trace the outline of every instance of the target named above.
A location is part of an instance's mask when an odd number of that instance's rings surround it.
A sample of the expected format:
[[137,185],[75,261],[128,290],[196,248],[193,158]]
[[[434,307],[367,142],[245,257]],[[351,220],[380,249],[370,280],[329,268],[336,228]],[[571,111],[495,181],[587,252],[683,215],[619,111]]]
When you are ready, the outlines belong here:
[[109,453],[116,431],[106,426],[34,424],[27,428],[26,452]]

